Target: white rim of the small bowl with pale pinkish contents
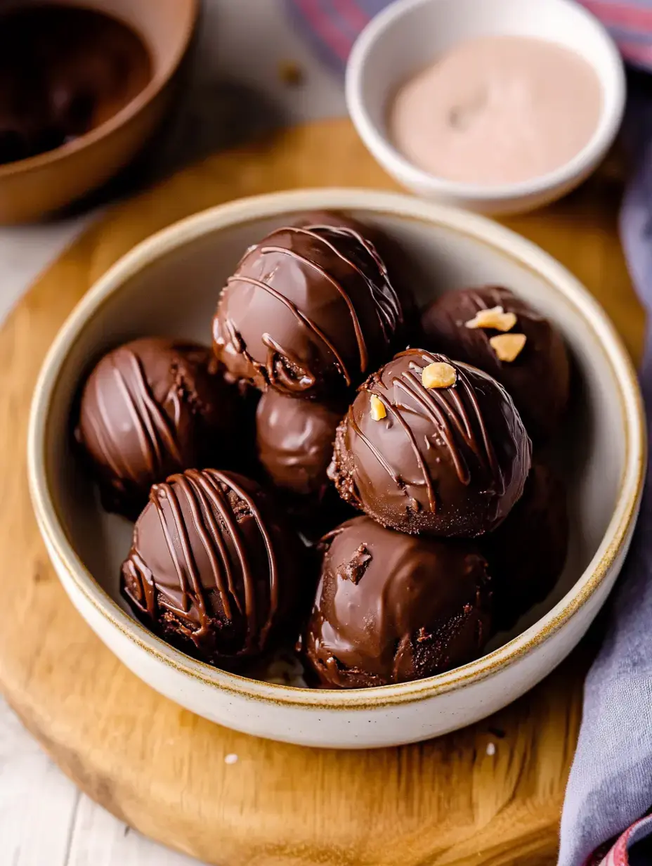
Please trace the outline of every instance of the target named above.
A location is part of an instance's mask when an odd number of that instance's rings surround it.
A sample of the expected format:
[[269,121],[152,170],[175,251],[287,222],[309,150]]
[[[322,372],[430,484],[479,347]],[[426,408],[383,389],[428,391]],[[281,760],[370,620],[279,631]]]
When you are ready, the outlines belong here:
[[[391,166],[391,171],[396,172],[397,177],[403,178],[406,184],[421,186],[423,189],[427,189],[429,194],[448,197],[449,199],[455,197],[473,198],[479,203],[500,202],[513,198],[540,195],[546,191],[564,188],[575,178],[582,178],[588,174],[607,152],[613,139],[616,138],[623,121],[627,87],[623,58],[616,47],[616,42],[596,16],[591,15],[591,12],[584,6],[571,3],[570,0],[547,0],[547,2],[558,4],[559,9],[565,10],[562,14],[567,14],[569,17],[575,16],[582,20],[584,26],[592,29],[595,35],[601,39],[608,62],[600,67],[594,63],[590,65],[597,74],[601,86],[604,87],[604,82],[609,80],[614,92],[610,106],[603,99],[600,119],[591,139],[575,156],[563,165],[559,165],[558,168],[529,180],[509,184],[474,184],[430,174],[429,171],[424,171],[412,163],[410,159],[404,157],[391,144],[389,137],[371,120],[370,113],[367,111],[366,95],[362,87],[365,64],[371,51],[375,48],[378,38],[391,29],[400,18],[421,6],[441,2],[442,0],[395,0],[377,16],[371,18],[353,45],[346,64],[346,107],[358,130],[358,135],[373,156],[382,165]],[[531,0],[531,2],[535,8],[539,5],[538,0]]]

